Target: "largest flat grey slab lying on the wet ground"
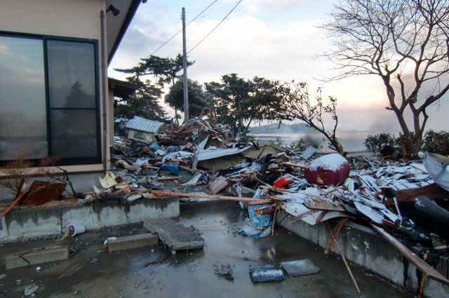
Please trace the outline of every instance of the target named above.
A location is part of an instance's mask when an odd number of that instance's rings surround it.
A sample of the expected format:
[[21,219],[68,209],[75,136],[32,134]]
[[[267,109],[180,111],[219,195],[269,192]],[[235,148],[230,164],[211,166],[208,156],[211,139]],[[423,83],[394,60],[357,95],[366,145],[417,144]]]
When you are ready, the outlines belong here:
[[161,241],[173,250],[203,248],[204,239],[171,218],[152,218],[143,221],[145,228],[157,233]]

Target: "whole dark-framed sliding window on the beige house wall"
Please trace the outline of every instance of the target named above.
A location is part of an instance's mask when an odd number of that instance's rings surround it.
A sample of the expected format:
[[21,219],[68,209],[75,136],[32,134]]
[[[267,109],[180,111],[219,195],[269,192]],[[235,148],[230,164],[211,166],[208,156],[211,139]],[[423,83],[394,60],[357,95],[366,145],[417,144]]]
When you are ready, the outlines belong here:
[[0,35],[0,161],[100,162],[96,43]]

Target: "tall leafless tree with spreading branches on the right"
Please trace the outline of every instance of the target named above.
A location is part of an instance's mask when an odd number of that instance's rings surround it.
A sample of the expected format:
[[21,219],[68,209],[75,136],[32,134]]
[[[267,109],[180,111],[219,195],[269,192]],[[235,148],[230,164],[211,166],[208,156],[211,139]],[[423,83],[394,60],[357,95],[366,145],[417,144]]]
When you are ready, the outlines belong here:
[[426,109],[449,90],[448,26],[447,0],[339,1],[321,26],[335,43],[324,56],[340,70],[330,80],[380,76],[411,154],[420,150]]

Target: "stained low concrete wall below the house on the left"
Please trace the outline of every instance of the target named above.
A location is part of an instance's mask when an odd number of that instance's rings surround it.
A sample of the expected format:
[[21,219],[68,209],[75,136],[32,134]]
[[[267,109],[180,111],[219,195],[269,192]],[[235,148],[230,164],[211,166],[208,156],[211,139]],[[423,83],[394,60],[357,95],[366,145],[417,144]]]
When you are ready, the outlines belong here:
[[179,215],[177,196],[160,200],[140,199],[129,204],[98,202],[91,205],[11,210],[0,222],[0,243],[64,233],[69,224],[83,224],[89,230]]

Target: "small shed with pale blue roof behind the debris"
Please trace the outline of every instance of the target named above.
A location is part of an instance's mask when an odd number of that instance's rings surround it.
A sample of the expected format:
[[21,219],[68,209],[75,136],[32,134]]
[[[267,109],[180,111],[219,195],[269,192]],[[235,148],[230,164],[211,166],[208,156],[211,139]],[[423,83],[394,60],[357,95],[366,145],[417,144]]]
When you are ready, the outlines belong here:
[[154,134],[159,133],[163,128],[163,123],[159,121],[148,120],[138,116],[128,120],[126,130],[128,130],[128,139],[142,142],[154,142]]

